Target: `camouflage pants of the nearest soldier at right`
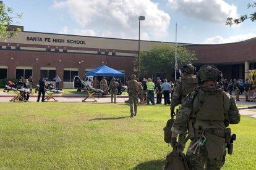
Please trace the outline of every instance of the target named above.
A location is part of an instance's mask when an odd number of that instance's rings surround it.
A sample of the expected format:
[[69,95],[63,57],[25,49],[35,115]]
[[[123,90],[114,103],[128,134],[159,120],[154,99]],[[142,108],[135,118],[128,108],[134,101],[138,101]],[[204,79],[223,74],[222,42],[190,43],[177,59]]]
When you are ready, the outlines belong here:
[[[189,147],[194,144],[195,141],[190,142]],[[189,169],[221,169],[225,162],[226,156],[226,144],[223,145],[223,153],[218,158],[214,160],[209,160],[207,158],[207,147],[203,145],[200,147],[200,153],[193,153],[194,148],[192,150],[187,149],[187,163],[189,164]]]

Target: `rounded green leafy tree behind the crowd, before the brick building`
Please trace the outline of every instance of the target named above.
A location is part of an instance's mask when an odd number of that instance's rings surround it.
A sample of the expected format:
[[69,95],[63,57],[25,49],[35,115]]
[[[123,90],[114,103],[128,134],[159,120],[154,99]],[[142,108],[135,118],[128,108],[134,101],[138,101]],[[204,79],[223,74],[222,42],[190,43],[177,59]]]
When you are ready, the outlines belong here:
[[[197,57],[186,47],[177,47],[177,63],[179,66],[191,63]],[[138,58],[135,60],[134,72],[137,73]],[[175,63],[175,46],[168,44],[155,45],[148,51],[140,53],[140,75],[155,77],[157,74],[173,75]]]

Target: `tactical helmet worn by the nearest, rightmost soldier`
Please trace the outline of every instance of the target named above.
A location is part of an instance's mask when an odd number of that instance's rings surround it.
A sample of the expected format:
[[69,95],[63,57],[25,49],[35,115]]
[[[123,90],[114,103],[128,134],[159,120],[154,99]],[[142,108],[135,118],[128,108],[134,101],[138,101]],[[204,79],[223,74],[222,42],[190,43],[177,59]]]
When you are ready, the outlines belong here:
[[199,81],[219,81],[222,77],[222,73],[214,65],[204,65],[198,70],[197,77]]

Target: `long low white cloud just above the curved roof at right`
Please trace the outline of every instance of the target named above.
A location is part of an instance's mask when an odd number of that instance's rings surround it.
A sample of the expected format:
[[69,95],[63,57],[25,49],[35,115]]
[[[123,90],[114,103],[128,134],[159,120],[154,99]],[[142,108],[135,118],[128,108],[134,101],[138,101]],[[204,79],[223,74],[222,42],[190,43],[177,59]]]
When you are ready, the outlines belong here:
[[223,44],[223,43],[231,43],[231,42],[239,42],[244,41],[246,39],[255,38],[256,34],[241,34],[237,36],[230,36],[229,38],[223,38],[222,36],[214,36],[211,38],[205,39],[203,44]]

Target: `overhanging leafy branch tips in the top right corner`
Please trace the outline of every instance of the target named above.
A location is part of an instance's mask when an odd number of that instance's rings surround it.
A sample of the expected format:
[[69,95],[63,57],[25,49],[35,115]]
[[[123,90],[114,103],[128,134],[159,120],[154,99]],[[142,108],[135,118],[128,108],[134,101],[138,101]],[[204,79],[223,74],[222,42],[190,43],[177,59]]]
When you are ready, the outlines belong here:
[[[248,4],[247,5],[247,9],[249,8],[253,8],[253,7],[256,7],[256,2],[254,2],[254,4]],[[233,17],[229,17],[227,18],[226,20],[226,25],[233,25],[234,23],[236,23],[237,25],[244,22],[244,20],[247,20],[247,19],[250,19],[252,22],[254,22],[256,20],[256,12],[254,12],[253,14],[250,14],[250,17],[248,17],[247,14],[245,15],[242,15],[241,17],[239,18],[233,18]]]

